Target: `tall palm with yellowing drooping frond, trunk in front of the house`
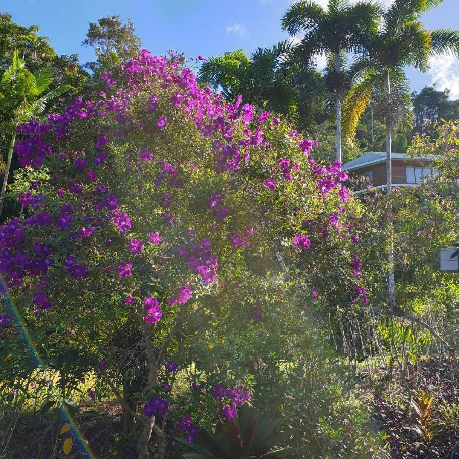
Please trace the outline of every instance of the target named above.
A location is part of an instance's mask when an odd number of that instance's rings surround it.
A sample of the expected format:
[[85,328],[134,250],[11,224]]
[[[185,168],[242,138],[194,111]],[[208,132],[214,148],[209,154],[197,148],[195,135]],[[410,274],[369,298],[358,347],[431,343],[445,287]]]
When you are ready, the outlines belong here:
[[391,127],[402,121],[412,125],[411,95],[403,69],[413,66],[425,72],[431,56],[459,54],[459,31],[429,31],[419,20],[422,13],[441,2],[395,0],[383,11],[378,31],[364,38],[364,52],[351,69],[354,85],[343,107],[343,130],[350,139],[355,137],[359,119],[373,99],[386,125],[388,192],[392,189]]

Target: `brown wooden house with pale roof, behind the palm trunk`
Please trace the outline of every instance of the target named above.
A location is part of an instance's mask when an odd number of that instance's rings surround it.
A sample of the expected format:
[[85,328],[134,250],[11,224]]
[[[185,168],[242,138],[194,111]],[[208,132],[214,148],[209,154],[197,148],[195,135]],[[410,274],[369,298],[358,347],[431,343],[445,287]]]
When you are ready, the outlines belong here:
[[[410,159],[405,153],[392,154],[392,187],[411,187],[432,173],[432,158]],[[370,151],[346,163],[343,168],[355,188],[354,194],[365,189],[386,188],[386,153]],[[435,171],[433,171],[435,173]]]

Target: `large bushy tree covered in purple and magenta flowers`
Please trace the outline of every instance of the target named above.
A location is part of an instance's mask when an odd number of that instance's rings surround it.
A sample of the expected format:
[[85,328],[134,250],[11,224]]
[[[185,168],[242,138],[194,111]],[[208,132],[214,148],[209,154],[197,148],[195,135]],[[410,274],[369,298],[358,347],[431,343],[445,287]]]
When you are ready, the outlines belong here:
[[[20,126],[21,165],[46,174],[0,229],[0,270],[37,348],[57,333],[84,347],[97,387],[140,425],[139,457],[154,432],[161,458],[175,376],[191,388],[193,366],[243,385],[254,346],[272,359],[279,323],[302,323],[297,277],[308,272],[311,288],[339,266],[335,294],[368,301],[360,206],[340,164],[316,163],[313,142],[269,112],[200,88],[180,56],[143,50],[119,73],[97,100]],[[20,330],[4,308],[13,372]]]

